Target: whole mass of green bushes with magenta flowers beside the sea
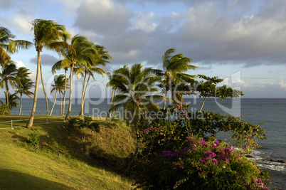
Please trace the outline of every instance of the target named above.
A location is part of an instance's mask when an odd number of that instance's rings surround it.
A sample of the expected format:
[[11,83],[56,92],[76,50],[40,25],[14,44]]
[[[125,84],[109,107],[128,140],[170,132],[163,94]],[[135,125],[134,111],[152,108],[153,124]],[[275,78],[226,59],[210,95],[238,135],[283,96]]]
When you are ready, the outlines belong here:
[[[140,146],[132,165],[134,185],[142,189],[268,189],[268,172],[243,156],[257,147],[258,137],[264,137],[259,126],[213,113],[194,121],[184,107],[174,109],[181,115],[178,120],[154,120],[139,127]],[[220,129],[238,135],[231,137],[243,149],[219,142],[215,136]]]

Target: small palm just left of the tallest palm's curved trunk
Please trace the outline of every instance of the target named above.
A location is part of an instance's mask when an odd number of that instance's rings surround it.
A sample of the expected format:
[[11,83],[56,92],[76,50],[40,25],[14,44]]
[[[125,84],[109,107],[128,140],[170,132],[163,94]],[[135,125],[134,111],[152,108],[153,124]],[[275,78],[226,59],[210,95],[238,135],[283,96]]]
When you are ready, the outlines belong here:
[[22,110],[22,97],[23,94],[27,95],[31,99],[31,95],[33,95],[33,92],[30,90],[35,87],[33,81],[31,78],[28,77],[31,73],[28,72],[28,69],[25,67],[21,67],[17,69],[16,73],[16,85],[17,85],[17,90],[16,93],[20,94],[20,109],[18,112],[18,115],[21,115],[21,110]]

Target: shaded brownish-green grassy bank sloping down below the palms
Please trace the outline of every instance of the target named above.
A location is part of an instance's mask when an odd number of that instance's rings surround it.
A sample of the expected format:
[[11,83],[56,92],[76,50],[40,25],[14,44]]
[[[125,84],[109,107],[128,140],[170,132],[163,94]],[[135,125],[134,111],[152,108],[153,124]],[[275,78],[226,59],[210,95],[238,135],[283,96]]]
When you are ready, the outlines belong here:
[[[46,147],[58,156],[68,154],[68,156],[81,160],[92,167],[124,173],[125,158],[117,157],[112,152],[106,152],[102,147],[92,144],[94,140],[90,139],[92,134],[86,134],[83,142],[83,134],[78,129],[70,127],[68,123],[53,126],[46,125],[43,129],[46,130],[48,135],[41,135],[40,147]],[[114,144],[113,146],[117,145]]]

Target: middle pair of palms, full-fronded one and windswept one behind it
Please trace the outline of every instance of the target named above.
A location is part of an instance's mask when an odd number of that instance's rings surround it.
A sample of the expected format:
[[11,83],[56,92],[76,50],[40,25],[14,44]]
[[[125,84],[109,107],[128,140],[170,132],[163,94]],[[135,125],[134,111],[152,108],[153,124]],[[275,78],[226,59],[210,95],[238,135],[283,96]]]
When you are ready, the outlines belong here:
[[[173,56],[175,52],[175,49],[171,48],[164,53],[163,70],[143,68],[141,63],[135,63],[131,68],[124,65],[123,68],[115,70],[107,83],[107,87],[112,88],[110,117],[112,112],[122,107],[125,111],[123,117],[132,120],[134,132],[137,132],[137,124],[144,118],[142,115],[161,108],[154,100],[164,100],[163,110],[166,109],[166,100],[173,103],[183,102],[182,92],[186,91],[186,87],[189,87],[189,83],[194,82],[196,77],[184,72],[197,67],[190,65],[191,58],[184,57],[183,53]],[[158,94],[156,85],[162,89],[164,95]],[[167,97],[168,91],[171,99]]]

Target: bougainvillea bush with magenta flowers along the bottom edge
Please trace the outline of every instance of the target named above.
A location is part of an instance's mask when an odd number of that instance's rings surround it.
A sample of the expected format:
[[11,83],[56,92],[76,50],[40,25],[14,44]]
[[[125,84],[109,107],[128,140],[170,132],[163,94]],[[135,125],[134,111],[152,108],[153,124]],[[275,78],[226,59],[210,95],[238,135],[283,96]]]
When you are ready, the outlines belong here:
[[[164,133],[161,130],[156,132],[161,135]],[[181,145],[139,156],[133,169],[134,186],[142,189],[268,189],[268,173],[228,144],[217,139],[186,137]]]

